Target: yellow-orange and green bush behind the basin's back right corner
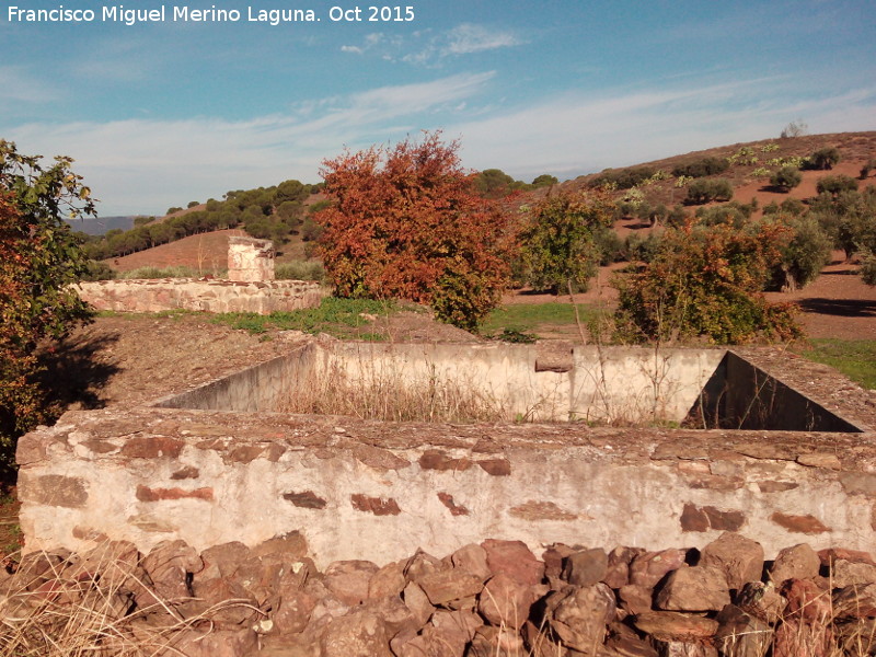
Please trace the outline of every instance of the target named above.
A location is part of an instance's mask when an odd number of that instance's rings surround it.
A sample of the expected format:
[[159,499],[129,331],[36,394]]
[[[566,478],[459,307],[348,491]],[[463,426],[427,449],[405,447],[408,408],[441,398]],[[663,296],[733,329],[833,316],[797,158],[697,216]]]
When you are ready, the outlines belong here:
[[793,309],[762,295],[788,237],[779,224],[749,231],[728,224],[668,229],[650,262],[615,281],[618,336],[630,342],[707,336],[736,344],[800,335]]

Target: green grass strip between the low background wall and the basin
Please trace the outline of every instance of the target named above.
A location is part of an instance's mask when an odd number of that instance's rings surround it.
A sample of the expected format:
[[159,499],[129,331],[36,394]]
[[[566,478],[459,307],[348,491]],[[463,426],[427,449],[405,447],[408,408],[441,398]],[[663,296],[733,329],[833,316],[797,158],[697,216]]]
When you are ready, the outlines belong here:
[[360,334],[358,328],[370,325],[378,316],[387,316],[401,309],[395,301],[326,297],[318,308],[273,312],[269,315],[229,312],[216,315],[212,322],[253,334],[268,331],[303,331],[312,334],[328,333],[341,338],[365,336],[364,339],[376,341],[384,339],[384,336],[373,332]]

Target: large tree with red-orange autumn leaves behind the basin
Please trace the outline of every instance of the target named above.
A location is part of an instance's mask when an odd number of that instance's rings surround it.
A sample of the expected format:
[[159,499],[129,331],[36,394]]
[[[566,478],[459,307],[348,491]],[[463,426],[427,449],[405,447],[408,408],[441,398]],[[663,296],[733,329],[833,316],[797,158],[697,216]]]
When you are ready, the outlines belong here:
[[512,217],[473,193],[458,149],[426,132],[323,162],[332,204],[318,216],[321,253],[338,296],[428,303],[466,330],[498,304]]

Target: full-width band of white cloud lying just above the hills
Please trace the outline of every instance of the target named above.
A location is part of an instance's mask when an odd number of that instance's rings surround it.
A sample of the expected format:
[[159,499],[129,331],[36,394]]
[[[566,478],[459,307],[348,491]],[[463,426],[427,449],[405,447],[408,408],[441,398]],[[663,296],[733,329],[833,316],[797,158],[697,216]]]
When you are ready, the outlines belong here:
[[[0,69],[0,73],[3,69]],[[561,177],[777,137],[798,116],[811,131],[876,129],[876,89],[807,96],[786,79],[656,90],[598,97],[569,92],[538,102],[486,105],[494,72],[382,87],[303,102],[288,113],[226,120],[148,118],[110,123],[31,124],[5,129],[22,152],[69,154],[104,216],[155,214],[228,189],[316,182],[320,163],[371,143],[442,128],[461,138],[473,169],[515,177]]]

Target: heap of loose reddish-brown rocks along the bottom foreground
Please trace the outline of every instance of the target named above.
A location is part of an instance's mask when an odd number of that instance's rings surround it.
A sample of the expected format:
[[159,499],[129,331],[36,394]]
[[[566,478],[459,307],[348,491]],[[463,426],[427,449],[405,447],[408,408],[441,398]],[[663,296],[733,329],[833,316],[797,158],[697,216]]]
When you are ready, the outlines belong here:
[[807,544],[766,562],[730,532],[702,551],[555,544],[542,558],[491,539],[322,573],[297,533],[200,554],[105,541],[0,569],[0,634],[54,641],[91,608],[114,627],[102,655],[127,638],[188,657],[857,657],[876,652],[874,568]]

